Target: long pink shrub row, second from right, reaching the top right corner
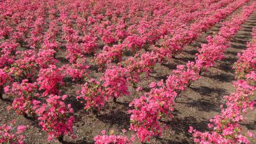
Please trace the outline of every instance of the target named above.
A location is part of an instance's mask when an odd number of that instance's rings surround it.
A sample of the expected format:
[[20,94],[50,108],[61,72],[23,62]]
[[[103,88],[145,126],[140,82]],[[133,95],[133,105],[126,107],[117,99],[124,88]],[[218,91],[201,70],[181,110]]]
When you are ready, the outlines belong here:
[[241,24],[255,11],[256,3],[244,6],[241,13],[234,15],[231,20],[224,22],[220,32],[212,38],[207,37],[208,44],[202,44],[195,62],[189,61],[187,65],[178,65],[165,83],[151,83],[149,93],[131,102],[134,108],[131,111],[130,129],[137,132],[141,141],[149,140],[152,136],[161,136],[164,118],[172,118],[175,99],[180,92],[186,90],[191,82],[200,78],[203,70],[214,66],[216,60],[224,58],[230,46],[232,36],[239,30]]

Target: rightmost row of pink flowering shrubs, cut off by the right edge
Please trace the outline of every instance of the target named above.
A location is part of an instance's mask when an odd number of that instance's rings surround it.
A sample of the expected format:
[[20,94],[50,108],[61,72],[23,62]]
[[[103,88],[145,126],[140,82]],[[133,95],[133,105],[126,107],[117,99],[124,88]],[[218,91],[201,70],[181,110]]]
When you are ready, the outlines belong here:
[[256,29],[253,29],[253,40],[247,49],[238,54],[239,60],[234,64],[237,81],[234,82],[236,92],[225,96],[225,106],[221,106],[220,115],[214,116],[208,124],[209,132],[200,132],[190,127],[196,143],[250,143],[255,134],[248,131],[244,136],[241,122],[244,122],[250,108],[255,108],[256,90]]

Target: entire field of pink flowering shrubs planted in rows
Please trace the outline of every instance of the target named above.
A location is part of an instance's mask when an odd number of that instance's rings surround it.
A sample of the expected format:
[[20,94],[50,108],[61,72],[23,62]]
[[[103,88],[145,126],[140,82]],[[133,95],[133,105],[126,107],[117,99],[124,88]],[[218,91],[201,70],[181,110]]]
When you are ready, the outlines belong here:
[[[170,126],[166,120],[172,120],[179,94],[225,58],[231,38],[255,10],[252,0],[1,1],[0,99],[10,100],[9,112],[37,120],[48,140],[60,142],[76,137],[75,116],[83,108],[98,118],[113,100],[129,105],[132,136],[102,132],[95,143],[150,141]],[[193,61],[151,81],[159,65],[218,23],[220,31],[206,37]],[[239,123],[255,106],[256,29],[252,36],[234,64],[236,92],[224,97],[221,113],[210,120],[212,131],[190,127],[196,143],[250,143]],[[12,122],[0,126],[0,143],[24,143],[25,129]]]

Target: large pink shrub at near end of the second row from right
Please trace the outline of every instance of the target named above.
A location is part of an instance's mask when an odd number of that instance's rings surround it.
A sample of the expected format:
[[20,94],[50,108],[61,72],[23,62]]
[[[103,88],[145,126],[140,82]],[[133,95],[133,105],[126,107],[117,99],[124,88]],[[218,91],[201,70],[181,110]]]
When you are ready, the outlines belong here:
[[[154,87],[154,84],[152,84]],[[161,86],[161,83],[157,84]],[[152,136],[161,136],[166,127],[161,120],[172,118],[173,99],[177,93],[165,88],[154,88],[150,93],[135,99],[130,103],[134,109],[131,113],[130,129],[137,132],[141,141],[149,141]]]

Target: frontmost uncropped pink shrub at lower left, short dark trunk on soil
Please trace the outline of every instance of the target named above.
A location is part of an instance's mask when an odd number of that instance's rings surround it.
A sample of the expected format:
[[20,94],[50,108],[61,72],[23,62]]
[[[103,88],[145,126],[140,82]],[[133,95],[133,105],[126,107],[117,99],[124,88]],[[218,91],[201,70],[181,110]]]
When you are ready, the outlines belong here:
[[48,133],[48,140],[58,138],[60,141],[64,135],[72,134],[74,113],[71,105],[63,102],[67,98],[67,95],[60,97],[58,95],[49,95],[46,99],[46,104],[42,104],[40,108],[36,110],[38,115],[39,124],[42,129]]

